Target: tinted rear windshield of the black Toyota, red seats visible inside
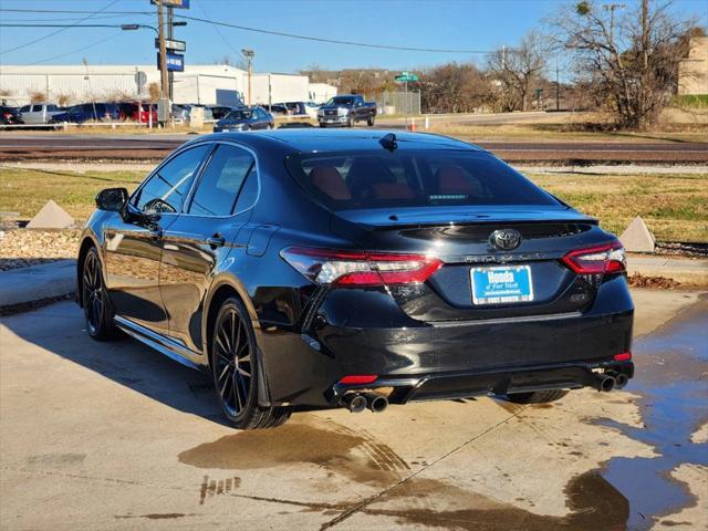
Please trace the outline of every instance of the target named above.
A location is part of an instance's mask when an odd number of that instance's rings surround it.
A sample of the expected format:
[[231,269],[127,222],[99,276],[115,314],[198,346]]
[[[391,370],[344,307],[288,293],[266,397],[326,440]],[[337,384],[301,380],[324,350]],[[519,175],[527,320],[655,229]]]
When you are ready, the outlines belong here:
[[304,154],[288,167],[332,210],[378,207],[561,205],[489,154],[426,149]]

